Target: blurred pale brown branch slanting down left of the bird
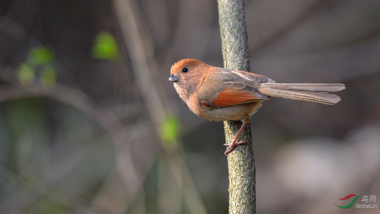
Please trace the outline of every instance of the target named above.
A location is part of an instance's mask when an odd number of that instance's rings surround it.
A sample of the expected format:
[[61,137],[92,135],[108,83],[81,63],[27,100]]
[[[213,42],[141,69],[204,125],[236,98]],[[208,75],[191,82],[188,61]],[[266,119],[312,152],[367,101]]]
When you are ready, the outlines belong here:
[[[147,30],[145,30],[145,23],[141,19],[141,14],[137,8],[136,2],[131,0],[114,0],[114,7],[119,17],[120,27],[122,29],[123,38],[127,46],[128,55],[131,58],[133,71],[138,82],[138,87],[144,97],[144,102],[148,106],[148,112],[153,126],[156,127],[157,134],[159,127],[164,123],[164,119],[168,120],[171,110],[168,105],[168,97],[163,90],[158,79],[158,64],[154,58],[154,48],[152,41]],[[178,124],[173,124],[177,126]],[[162,130],[161,130],[162,132]],[[171,135],[172,129],[164,129],[161,136]],[[160,157],[158,159],[158,187],[159,187],[159,209],[161,213],[179,213],[182,210],[181,198],[187,204],[190,213],[204,214],[207,213],[204,208],[200,195],[195,188],[192,177],[182,159],[180,151],[176,148],[181,146],[177,137],[169,139],[172,144],[169,146],[165,139],[161,139],[163,148],[166,150],[167,157]],[[173,145],[174,144],[174,145]],[[179,144],[179,145],[178,145]],[[169,168],[167,168],[169,165]],[[188,176],[186,179],[182,178],[183,174]],[[171,174],[171,176],[169,176]],[[177,184],[177,186],[173,185]],[[189,191],[192,190],[192,191]],[[184,192],[184,193],[182,193]]]

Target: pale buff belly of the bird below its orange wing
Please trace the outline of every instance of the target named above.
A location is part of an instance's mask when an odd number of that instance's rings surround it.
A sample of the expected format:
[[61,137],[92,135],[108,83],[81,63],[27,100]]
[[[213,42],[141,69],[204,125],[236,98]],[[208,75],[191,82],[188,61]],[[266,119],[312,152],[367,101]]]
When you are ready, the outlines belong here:
[[226,120],[241,120],[244,117],[250,116],[261,107],[263,101],[256,101],[250,103],[243,103],[233,106],[226,106],[221,108],[204,109],[197,108],[193,111],[199,117],[214,121]]

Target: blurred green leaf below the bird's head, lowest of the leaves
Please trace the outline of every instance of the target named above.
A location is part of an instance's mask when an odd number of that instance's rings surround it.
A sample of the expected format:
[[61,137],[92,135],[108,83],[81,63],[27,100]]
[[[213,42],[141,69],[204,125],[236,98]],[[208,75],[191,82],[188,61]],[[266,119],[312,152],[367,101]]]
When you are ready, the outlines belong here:
[[160,128],[161,141],[164,147],[171,149],[177,146],[176,139],[179,136],[179,130],[180,127],[177,115],[168,115]]

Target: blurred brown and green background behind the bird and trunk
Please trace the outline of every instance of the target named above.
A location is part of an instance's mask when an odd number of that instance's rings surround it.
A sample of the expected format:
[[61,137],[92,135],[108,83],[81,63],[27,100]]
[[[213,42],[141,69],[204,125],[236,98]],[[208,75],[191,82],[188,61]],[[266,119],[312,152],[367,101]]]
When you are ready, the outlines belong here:
[[[257,212],[378,213],[333,203],[380,200],[380,2],[245,6],[251,72],[347,87],[252,117]],[[216,1],[2,0],[0,16],[2,214],[228,212],[223,123],[168,81],[180,59],[223,66]]]

